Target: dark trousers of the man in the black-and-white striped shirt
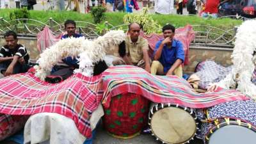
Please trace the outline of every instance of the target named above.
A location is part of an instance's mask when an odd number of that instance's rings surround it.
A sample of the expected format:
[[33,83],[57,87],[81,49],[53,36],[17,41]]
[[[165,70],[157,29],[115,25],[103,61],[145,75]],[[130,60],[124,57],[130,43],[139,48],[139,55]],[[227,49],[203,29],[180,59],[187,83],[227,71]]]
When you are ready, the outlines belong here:
[[[9,67],[10,63],[12,61],[3,61],[0,63],[0,72],[3,74]],[[21,65],[19,62],[16,63],[15,67],[13,68],[13,74],[19,74],[23,72],[28,72],[29,65],[28,64],[23,64]]]

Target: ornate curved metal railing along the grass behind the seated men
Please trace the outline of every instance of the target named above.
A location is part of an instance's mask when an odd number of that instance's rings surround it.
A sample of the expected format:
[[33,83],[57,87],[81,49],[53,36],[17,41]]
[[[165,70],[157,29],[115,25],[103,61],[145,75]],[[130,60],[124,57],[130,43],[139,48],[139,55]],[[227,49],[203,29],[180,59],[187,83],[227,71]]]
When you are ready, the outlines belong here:
[[[99,27],[96,24],[84,21],[76,21],[76,23],[77,30],[86,38],[97,38],[102,35],[102,33],[99,33]],[[128,29],[127,24],[119,26],[113,26],[109,22],[105,22],[104,24],[106,30],[122,29],[127,31]],[[34,19],[15,19],[7,21],[0,18],[0,35],[3,35],[5,31],[12,29],[20,36],[36,36],[45,26],[48,26],[54,35],[60,35],[64,31],[64,24],[58,23],[51,18],[47,20],[47,22],[40,22]],[[193,25],[193,30],[195,31],[194,44],[218,47],[234,46],[236,28],[221,29],[213,26]]]

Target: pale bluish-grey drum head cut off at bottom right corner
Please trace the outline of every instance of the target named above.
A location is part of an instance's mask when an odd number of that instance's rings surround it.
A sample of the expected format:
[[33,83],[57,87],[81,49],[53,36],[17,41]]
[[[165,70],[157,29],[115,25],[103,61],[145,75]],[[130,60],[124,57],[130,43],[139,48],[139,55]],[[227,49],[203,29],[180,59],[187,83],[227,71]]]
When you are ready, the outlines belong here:
[[209,144],[255,144],[256,132],[239,125],[226,125],[211,134]]

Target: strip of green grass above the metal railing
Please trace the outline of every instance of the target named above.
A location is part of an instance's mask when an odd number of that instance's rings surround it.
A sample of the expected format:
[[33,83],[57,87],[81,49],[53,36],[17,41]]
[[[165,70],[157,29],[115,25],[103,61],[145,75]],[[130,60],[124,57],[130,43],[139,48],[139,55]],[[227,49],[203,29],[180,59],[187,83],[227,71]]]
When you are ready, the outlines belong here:
[[[5,20],[10,20],[10,12],[13,9],[1,9],[0,17]],[[56,11],[36,11],[30,10],[30,19],[39,20],[41,22],[47,22],[51,17],[53,20],[59,23],[63,23],[67,19],[86,21],[93,23],[93,17],[90,14],[83,14],[77,12],[56,12]],[[106,13],[105,21],[108,21],[113,26],[124,24],[123,17],[126,13],[111,12]],[[234,26],[239,26],[243,21],[234,19],[202,19],[201,17],[189,16],[189,15],[157,15],[153,14],[152,18],[159,22],[162,26],[166,23],[173,24],[176,28],[191,25],[207,25],[214,26],[221,29],[232,29]]]

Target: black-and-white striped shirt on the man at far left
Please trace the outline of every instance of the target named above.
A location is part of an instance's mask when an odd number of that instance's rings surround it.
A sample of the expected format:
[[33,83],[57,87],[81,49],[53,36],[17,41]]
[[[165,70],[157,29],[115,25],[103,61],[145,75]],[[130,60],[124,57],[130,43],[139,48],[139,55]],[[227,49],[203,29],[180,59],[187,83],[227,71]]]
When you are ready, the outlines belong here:
[[3,47],[1,47],[0,57],[11,57],[11,56],[22,57],[28,64],[29,54],[27,49],[23,45],[17,44],[15,49],[9,49],[8,45],[4,45]]

